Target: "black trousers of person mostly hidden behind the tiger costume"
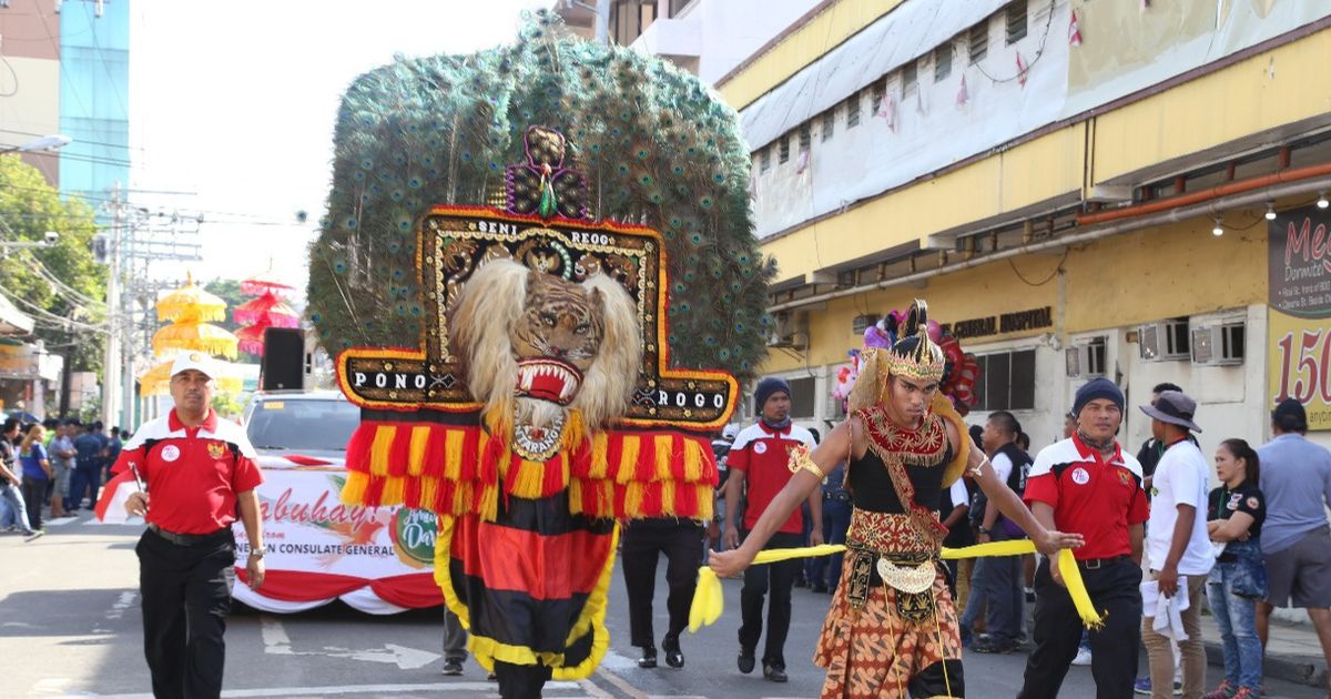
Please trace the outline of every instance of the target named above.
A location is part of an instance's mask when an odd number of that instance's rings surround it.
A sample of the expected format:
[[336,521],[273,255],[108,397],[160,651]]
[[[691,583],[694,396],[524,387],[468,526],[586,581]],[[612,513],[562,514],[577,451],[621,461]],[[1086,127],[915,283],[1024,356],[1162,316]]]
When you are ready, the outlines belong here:
[[656,595],[656,562],[666,554],[666,583],[669,595],[666,610],[669,627],[666,638],[679,642],[688,626],[688,607],[697,588],[697,559],[703,555],[703,526],[692,519],[647,519],[624,527],[620,557],[624,588],[628,590],[630,643],[639,648],[656,647],[652,632],[652,598]]

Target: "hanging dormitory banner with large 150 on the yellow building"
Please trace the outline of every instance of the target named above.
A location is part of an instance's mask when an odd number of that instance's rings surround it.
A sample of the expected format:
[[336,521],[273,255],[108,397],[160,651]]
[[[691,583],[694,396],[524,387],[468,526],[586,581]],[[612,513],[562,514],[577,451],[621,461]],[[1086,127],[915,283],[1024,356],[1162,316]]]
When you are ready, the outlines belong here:
[[1298,398],[1310,430],[1331,430],[1331,210],[1284,212],[1268,234],[1270,405]]

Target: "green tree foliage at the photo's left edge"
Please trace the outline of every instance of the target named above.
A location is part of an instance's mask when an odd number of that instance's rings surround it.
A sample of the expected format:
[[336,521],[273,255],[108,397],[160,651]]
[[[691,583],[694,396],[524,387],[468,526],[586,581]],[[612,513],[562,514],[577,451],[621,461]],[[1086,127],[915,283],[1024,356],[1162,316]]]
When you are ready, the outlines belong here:
[[0,294],[36,318],[33,334],[48,349],[73,346],[73,370],[100,371],[105,336],[85,328],[106,321],[106,269],[92,254],[93,209],[79,197],[61,200],[17,156],[0,156],[0,240],[44,241],[48,230],[60,234],[55,245],[0,249]]

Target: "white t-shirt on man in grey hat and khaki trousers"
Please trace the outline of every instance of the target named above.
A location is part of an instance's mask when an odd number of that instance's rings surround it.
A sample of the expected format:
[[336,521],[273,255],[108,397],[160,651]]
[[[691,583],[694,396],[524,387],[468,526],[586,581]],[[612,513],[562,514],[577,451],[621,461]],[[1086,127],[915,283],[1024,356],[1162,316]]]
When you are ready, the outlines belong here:
[[1206,575],[1215,559],[1211,557],[1211,542],[1206,537],[1206,486],[1207,465],[1202,450],[1190,439],[1175,443],[1165,450],[1155,466],[1155,479],[1151,482],[1155,497],[1151,499],[1151,518],[1146,526],[1146,547],[1153,570],[1165,567],[1170,542],[1174,539],[1174,523],[1178,521],[1178,506],[1197,507],[1193,521],[1193,535],[1187,549],[1178,561],[1179,575]]

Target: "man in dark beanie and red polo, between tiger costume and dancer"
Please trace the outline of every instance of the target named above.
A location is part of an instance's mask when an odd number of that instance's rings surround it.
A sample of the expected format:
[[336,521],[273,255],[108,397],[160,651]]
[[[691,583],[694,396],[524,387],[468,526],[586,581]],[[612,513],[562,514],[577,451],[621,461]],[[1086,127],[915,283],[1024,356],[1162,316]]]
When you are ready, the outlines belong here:
[[[768,377],[757,383],[753,402],[759,409],[756,423],[740,430],[725,457],[731,475],[727,481],[725,511],[731,518],[725,527],[725,547],[736,549],[741,533],[747,534],[772,498],[791,479],[787,463],[791,447],[804,445],[813,449],[809,430],[791,423],[791,385],[781,378]],[[747,491],[747,505],[740,507],[740,497]],[[823,497],[815,491],[808,498],[813,522],[823,522]],[[796,509],[767,543],[767,549],[797,549],[804,545],[804,514]],[[823,543],[823,529],[813,527],[812,542]],[[749,674],[756,664],[755,652],[763,635],[763,598],[772,592],[767,611],[767,644],[763,650],[763,676],[771,682],[785,682],[785,635],[791,630],[791,590],[803,562],[799,559],[751,566],[744,571],[740,591],[740,672]]]

